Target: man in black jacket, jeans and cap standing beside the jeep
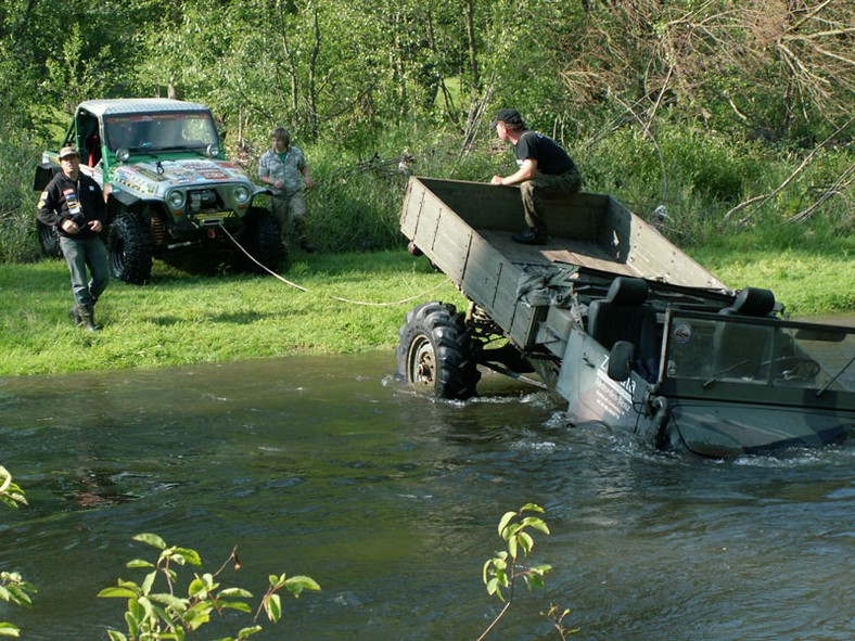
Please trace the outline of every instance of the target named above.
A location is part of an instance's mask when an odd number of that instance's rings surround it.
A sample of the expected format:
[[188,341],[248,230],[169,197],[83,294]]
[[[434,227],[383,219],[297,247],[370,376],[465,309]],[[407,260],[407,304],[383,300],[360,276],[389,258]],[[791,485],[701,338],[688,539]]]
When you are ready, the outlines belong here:
[[104,196],[98,183],[80,172],[80,153],[75,148],[60,150],[60,167],[62,171],[39,198],[36,216],[60,232],[60,247],[72,274],[75,299],[68,315],[75,325],[93,332],[93,308],[110,282],[106,247],[99,235],[106,222]]

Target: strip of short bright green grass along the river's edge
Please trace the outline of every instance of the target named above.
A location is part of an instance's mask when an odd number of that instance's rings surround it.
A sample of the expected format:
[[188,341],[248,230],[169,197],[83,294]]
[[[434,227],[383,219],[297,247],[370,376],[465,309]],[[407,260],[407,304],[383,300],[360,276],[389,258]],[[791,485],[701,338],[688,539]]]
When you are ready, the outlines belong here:
[[[705,247],[694,256],[731,286],[771,289],[795,316],[855,308],[847,253]],[[298,255],[283,277],[307,291],[271,277],[199,277],[155,261],[149,285],[111,283],[97,308],[103,330],[92,334],[68,320],[64,262],[0,265],[0,375],[391,351],[412,306],[463,303],[444,274],[403,251]]]

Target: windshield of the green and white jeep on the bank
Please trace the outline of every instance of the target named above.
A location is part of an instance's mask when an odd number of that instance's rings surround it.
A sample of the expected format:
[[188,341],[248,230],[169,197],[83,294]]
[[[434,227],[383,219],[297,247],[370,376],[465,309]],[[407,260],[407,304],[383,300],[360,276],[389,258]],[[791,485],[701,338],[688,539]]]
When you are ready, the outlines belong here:
[[218,145],[217,128],[207,112],[175,112],[107,116],[104,136],[111,152],[202,151]]

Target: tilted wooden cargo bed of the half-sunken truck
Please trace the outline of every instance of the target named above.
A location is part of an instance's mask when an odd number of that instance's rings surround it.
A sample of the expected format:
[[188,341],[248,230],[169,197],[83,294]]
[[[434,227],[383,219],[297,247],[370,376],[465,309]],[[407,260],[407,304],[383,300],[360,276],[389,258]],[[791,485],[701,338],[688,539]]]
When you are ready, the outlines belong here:
[[412,177],[400,229],[520,347],[544,339],[538,325],[550,311],[518,299],[526,268],[570,264],[615,275],[726,289],[611,196],[579,193],[545,209],[549,242],[522,245],[510,238],[525,228],[519,188]]

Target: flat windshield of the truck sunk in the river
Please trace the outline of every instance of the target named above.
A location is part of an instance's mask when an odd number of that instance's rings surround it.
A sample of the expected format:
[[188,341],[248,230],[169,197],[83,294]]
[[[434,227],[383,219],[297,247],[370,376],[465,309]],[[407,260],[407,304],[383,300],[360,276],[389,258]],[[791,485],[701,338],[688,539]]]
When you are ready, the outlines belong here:
[[672,311],[662,389],[674,396],[855,409],[855,328]]

